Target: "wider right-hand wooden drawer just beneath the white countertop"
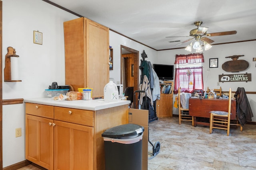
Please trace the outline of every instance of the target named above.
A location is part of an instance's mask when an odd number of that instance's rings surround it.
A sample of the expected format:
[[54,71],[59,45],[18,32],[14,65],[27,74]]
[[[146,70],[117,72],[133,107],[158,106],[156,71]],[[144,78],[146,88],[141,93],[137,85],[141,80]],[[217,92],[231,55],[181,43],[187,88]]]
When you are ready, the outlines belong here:
[[54,119],[94,127],[94,111],[55,106]]

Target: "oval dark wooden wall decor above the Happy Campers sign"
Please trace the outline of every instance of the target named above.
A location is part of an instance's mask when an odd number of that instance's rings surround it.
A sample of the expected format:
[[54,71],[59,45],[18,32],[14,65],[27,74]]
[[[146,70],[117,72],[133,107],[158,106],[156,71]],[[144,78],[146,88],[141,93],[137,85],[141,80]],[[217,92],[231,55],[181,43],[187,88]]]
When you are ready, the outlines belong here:
[[233,55],[225,58],[231,58],[232,61],[226,61],[222,64],[222,69],[227,72],[239,72],[248,68],[249,63],[245,60],[237,60],[238,57],[242,57],[244,55]]

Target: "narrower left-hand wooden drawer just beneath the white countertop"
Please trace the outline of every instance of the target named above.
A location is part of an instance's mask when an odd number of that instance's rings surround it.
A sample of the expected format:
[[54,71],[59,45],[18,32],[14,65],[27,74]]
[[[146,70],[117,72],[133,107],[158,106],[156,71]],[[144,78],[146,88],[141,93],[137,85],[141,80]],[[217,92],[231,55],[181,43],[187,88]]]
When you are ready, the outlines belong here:
[[26,114],[54,118],[54,107],[42,104],[26,103]]

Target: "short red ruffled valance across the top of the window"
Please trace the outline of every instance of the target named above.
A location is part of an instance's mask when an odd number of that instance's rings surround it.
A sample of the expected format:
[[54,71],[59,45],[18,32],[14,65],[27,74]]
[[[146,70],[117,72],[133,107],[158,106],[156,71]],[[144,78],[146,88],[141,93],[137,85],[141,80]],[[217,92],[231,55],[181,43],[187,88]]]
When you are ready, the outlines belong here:
[[184,63],[204,63],[203,53],[193,53],[188,55],[176,55],[174,64],[184,64]]

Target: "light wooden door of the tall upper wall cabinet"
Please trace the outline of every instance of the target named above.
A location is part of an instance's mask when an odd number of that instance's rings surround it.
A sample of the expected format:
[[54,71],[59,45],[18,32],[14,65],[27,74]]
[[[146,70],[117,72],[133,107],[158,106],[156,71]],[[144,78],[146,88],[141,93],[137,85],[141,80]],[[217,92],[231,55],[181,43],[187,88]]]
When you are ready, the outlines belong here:
[[92,96],[103,96],[109,82],[109,29],[86,20],[86,86]]

